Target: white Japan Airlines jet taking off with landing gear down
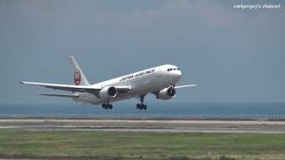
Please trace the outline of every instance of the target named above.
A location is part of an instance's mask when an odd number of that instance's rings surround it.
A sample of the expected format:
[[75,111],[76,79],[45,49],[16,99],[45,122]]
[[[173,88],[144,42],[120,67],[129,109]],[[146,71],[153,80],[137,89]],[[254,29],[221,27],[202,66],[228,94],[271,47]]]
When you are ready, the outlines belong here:
[[98,84],[89,84],[84,73],[77,65],[77,61],[69,57],[75,85],[69,84],[45,84],[36,82],[21,82],[21,84],[39,85],[53,90],[73,92],[72,94],[40,94],[45,96],[66,97],[72,100],[102,104],[102,108],[112,109],[111,103],[118,100],[137,98],[141,103],[136,105],[138,109],[146,109],[143,104],[146,94],[153,93],[157,99],[169,100],[175,97],[175,89],[195,86],[188,84],[175,86],[181,78],[181,71],[174,65],[162,65],[148,68],[126,76],[119,76]]

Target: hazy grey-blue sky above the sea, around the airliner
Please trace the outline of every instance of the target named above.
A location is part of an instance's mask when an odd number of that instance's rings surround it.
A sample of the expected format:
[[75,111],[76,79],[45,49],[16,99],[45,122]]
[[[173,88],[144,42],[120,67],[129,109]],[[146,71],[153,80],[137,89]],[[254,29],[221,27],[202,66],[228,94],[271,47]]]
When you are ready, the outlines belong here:
[[171,101],[284,102],[284,17],[282,0],[0,0],[0,104],[71,104],[19,84],[72,84],[70,55],[90,83],[174,64],[197,86]]

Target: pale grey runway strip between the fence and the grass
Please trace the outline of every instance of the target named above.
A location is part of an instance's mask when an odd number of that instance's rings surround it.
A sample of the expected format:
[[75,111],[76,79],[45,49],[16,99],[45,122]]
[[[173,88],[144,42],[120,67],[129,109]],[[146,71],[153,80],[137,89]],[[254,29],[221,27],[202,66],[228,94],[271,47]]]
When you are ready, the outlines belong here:
[[0,130],[285,133],[285,122],[0,119]]

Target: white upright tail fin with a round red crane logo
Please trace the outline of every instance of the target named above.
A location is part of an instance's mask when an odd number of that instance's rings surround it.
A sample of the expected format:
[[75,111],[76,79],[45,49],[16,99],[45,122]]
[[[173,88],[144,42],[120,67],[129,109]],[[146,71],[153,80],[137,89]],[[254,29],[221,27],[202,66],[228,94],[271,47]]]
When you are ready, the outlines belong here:
[[85,78],[84,73],[82,72],[81,68],[78,66],[77,61],[74,59],[73,56],[69,57],[72,71],[73,71],[73,82],[76,85],[90,85]]

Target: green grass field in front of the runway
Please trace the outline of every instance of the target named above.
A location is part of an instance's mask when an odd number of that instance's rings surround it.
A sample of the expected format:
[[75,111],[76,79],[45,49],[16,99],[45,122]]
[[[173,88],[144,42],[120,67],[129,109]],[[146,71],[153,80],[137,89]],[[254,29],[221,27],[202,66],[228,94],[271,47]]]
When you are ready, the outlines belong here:
[[0,157],[282,159],[285,135],[0,131]]

